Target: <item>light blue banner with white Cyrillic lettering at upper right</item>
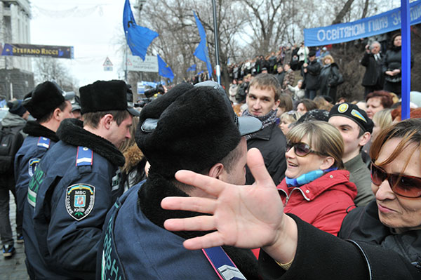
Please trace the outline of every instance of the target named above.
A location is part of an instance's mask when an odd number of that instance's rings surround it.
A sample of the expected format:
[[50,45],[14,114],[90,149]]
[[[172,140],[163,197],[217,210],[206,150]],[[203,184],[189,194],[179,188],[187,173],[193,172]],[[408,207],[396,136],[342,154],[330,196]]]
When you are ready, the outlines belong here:
[[[410,4],[410,25],[421,22],[421,0]],[[304,29],[305,46],[324,46],[354,41],[401,29],[401,8],[354,22]]]

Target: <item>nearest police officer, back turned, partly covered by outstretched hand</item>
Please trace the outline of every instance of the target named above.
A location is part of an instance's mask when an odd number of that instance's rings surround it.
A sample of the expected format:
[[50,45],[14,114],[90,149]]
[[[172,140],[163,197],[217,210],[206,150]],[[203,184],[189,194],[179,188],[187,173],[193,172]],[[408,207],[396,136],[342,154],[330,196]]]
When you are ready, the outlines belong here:
[[220,277],[258,279],[251,251],[186,251],[182,241],[197,232],[168,232],[163,221],[196,213],[164,211],[161,200],[203,196],[199,189],[175,180],[179,169],[244,184],[247,144],[241,136],[261,127],[254,117],[237,118],[227,94],[213,81],[180,84],[145,106],[136,142],[151,164],[149,177],[143,185],[131,187],[109,211],[98,250],[97,279],[218,279],[213,267],[224,267],[218,270]]

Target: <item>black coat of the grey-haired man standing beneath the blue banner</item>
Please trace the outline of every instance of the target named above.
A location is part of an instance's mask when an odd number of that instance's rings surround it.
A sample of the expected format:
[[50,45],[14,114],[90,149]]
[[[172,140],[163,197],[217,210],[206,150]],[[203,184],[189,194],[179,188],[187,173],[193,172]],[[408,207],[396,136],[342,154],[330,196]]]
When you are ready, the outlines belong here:
[[380,60],[375,60],[373,53],[364,53],[361,65],[366,67],[366,73],[363,76],[362,86],[383,86],[383,72],[382,72],[382,58],[383,55],[380,53]]

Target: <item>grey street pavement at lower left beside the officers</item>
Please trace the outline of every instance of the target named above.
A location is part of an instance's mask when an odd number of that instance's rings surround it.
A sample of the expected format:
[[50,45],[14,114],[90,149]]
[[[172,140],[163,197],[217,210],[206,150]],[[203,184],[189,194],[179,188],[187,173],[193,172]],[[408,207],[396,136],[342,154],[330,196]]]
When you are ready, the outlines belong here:
[[24,244],[16,243],[16,204],[13,194],[11,192],[9,194],[11,197],[9,215],[13,229],[13,238],[15,239],[16,253],[10,259],[5,259],[3,254],[0,255],[0,280],[27,280],[29,276],[25,266],[25,247]]

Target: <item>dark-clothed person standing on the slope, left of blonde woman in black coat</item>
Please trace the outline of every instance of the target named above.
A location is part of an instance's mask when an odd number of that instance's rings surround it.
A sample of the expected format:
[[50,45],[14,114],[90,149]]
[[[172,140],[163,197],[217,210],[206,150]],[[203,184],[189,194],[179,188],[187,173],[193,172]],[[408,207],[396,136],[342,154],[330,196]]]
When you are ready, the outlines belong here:
[[316,60],[316,52],[309,52],[309,62],[304,63],[301,67],[301,76],[304,77],[305,98],[313,100],[319,89],[319,74],[321,65]]

